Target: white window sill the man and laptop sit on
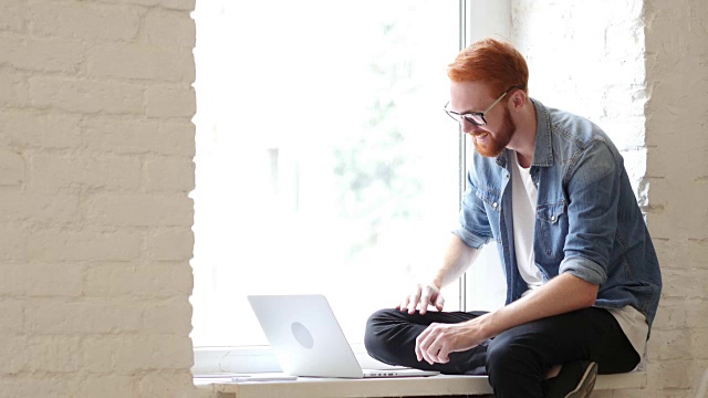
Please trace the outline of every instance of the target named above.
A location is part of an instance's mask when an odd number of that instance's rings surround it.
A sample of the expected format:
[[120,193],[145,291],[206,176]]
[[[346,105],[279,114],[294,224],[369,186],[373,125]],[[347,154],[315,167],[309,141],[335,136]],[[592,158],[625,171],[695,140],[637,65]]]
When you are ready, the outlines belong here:
[[[646,371],[602,375],[596,390],[645,388]],[[420,397],[492,394],[486,376],[406,377],[379,379],[332,379],[300,377],[292,381],[210,383],[197,380],[200,389],[233,395],[235,398],[333,398]],[[227,396],[228,397],[228,396]]]

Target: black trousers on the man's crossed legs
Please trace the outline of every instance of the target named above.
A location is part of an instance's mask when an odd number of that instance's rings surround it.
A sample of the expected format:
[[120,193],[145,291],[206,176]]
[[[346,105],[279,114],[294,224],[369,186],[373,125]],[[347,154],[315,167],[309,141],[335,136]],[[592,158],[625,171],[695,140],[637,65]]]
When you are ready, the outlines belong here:
[[451,353],[447,364],[416,359],[416,337],[431,323],[465,322],[483,312],[381,310],[366,323],[368,354],[389,365],[449,375],[489,375],[496,397],[543,397],[542,381],[553,365],[580,359],[597,363],[598,373],[634,369],[641,360],[617,321],[602,308],[583,308],[530,322],[479,346]]

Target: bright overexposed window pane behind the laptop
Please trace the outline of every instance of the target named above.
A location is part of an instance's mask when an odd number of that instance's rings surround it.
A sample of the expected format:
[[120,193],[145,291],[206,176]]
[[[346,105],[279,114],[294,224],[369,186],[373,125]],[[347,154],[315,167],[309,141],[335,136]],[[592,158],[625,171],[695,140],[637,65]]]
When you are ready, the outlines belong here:
[[[455,1],[197,1],[195,346],[262,345],[247,294],[323,293],[352,343],[457,221]],[[456,310],[457,291],[446,310]]]

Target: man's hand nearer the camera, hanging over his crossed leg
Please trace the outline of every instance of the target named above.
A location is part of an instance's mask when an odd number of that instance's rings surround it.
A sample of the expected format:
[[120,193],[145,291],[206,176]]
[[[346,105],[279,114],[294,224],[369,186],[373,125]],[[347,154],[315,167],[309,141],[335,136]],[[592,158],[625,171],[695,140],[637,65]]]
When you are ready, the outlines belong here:
[[416,338],[416,358],[433,365],[447,364],[448,355],[478,346],[487,337],[481,336],[475,320],[458,324],[430,324]]

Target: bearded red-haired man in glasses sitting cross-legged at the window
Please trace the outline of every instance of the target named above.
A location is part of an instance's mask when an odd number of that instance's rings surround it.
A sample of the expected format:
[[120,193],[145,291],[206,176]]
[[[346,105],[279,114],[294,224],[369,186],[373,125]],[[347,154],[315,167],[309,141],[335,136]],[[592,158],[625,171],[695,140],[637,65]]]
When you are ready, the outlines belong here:
[[[528,74],[492,39],[449,65],[445,111],[476,149],[460,226],[431,281],[373,314],[365,343],[388,364],[488,374],[497,397],[585,397],[597,373],[639,363],[659,265],[615,146],[587,119],[530,98]],[[442,312],[440,289],[490,241],[507,304]]]

